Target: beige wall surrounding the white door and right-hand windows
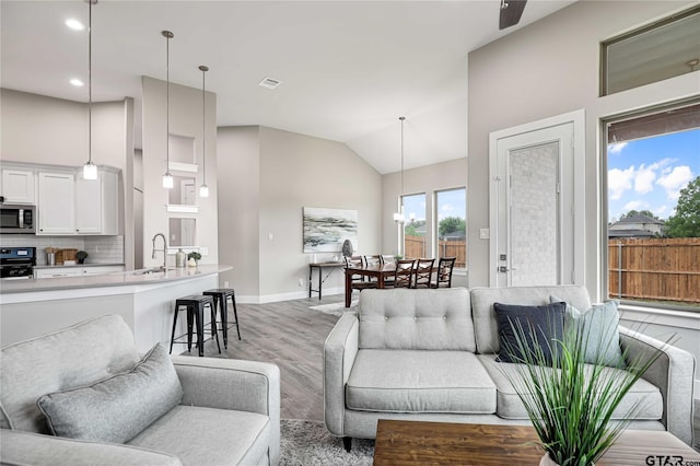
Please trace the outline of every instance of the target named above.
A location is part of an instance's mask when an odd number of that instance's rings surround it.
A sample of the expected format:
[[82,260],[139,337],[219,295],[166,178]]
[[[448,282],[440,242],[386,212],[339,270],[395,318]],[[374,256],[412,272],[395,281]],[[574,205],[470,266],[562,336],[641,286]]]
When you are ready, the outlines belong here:
[[688,1],[579,1],[469,54],[469,286],[489,283],[489,133],[583,108],[585,286],[600,299],[599,119],[700,92],[699,72],[598,97],[599,43],[660,19]]

